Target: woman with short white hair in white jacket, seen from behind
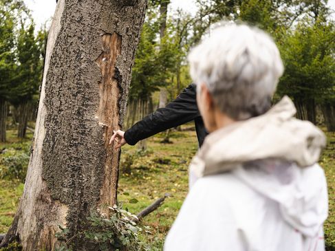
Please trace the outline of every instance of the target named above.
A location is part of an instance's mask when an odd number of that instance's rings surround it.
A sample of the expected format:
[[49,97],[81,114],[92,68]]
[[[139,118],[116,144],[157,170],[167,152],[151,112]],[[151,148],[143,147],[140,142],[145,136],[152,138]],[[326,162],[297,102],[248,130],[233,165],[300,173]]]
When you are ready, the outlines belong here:
[[270,107],[283,63],[267,34],[215,29],[189,55],[210,135],[193,158],[190,191],[166,251],[324,250],[325,145],[284,97]]

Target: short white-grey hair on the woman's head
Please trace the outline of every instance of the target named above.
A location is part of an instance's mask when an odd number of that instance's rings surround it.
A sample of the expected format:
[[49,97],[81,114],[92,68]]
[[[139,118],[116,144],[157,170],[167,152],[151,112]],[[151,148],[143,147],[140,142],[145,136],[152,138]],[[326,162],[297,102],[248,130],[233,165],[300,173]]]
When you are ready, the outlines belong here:
[[244,24],[215,28],[191,50],[188,61],[193,81],[206,84],[215,105],[235,120],[268,111],[283,74],[272,38]]

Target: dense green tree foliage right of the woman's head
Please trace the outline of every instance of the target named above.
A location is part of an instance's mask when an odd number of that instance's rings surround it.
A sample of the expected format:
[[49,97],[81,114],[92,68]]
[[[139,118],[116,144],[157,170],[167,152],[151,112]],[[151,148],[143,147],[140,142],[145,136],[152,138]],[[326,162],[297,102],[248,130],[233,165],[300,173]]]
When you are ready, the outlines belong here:
[[315,99],[319,104],[334,96],[334,23],[320,19],[299,23],[279,47],[285,64],[279,94],[295,100]]

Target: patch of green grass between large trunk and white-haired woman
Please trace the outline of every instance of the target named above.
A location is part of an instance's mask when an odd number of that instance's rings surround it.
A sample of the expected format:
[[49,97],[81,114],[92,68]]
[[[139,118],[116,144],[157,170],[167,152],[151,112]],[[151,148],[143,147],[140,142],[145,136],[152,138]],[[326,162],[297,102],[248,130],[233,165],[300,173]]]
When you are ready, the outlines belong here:
[[[161,239],[171,227],[182,201],[188,191],[188,164],[197,151],[194,131],[172,133],[173,144],[161,144],[162,135],[147,141],[147,153],[139,155],[136,147],[122,149],[118,200],[124,208],[138,213],[165,193],[169,193],[164,204],[144,218],[143,223],[151,226],[153,236]],[[136,155],[131,173],[122,172],[125,156]],[[128,163],[129,164],[129,163]],[[129,195],[123,195],[129,193]],[[127,203],[138,199],[138,204]]]

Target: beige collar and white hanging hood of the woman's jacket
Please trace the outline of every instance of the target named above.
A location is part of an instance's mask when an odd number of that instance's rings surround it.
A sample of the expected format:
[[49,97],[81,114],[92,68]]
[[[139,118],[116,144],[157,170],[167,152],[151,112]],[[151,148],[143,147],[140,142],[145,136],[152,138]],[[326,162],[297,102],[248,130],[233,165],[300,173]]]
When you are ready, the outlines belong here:
[[313,236],[327,218],[325,175],[316,164],[326,140],[311,122],[294,118],[295,113],[293,102],[284,97],[262,116],[210,133],[191,162],[190,182],[232,171],[277,201],[291,226]]

